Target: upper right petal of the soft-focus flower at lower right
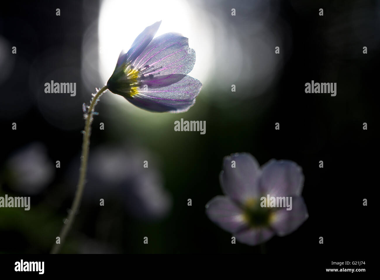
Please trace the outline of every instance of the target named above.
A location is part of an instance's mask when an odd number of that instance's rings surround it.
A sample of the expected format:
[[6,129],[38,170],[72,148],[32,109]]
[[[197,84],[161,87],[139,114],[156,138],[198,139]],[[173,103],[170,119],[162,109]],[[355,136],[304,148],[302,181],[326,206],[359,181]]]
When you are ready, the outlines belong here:
[[274,197],[299,196],[304,184],[302,168],[293,161],[272,159],[262,167],[260,189]]

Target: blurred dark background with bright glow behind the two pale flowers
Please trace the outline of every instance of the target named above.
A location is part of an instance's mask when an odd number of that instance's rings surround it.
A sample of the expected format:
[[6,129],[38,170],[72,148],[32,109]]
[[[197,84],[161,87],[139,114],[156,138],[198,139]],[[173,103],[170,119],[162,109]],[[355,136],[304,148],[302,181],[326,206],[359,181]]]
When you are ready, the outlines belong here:
[[[222,159],[234,152],[290,159],[304,171],[309,219],[272,238],[268,252],[370,247],[360,225],[373,224],[362,200],[376,176],[378,1],[12,1],[0,15],[0,196],[31,196],[32,204],[0,208],[0,252],[49,252],[78,176],[82,103],[108,80],[120,50],[158,20],[157,35],[189,38],[196,51],[189,75],[203,89],[179,115],[101,97],[86,192],[62,252],[260,252],[232,245],[205,215],[207,201],[222,194]],[[51,80],[76,83],[76,96],[46,94]],[[306,94],[311,80],[336,82],[337,96]],[[206,134],[174,131],[181,118],[206,121]]]

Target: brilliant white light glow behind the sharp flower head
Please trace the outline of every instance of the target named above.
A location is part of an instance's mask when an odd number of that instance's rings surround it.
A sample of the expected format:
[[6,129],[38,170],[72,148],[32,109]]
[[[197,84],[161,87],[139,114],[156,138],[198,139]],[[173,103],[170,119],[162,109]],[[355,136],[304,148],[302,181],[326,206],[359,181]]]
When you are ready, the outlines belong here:
[[196,62],[189,74],[205,83],[213,65],[212,30],[206,14],[185,0],[103,0],[99,15],[99,69],[107,81],[122,49],[128,51],[145,27],[162,20],[155,37],[178,32],[189,39]]

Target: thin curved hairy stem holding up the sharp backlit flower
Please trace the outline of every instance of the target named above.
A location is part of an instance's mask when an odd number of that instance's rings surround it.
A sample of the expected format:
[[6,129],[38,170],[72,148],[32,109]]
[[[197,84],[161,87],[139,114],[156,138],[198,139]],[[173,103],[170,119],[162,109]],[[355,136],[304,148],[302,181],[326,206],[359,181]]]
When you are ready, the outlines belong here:
[[79,169],[79,180],[76,187],[75,197],[71,209],[69,210],[68,216],[64,221],[64,225],[59,234],[60,244],[57,242],[54,244],[51,253],[56,254],[60,250],[60,247],[65,242],[65,238],[74,223],[75,215],[78,212],[79,204],[81,204],[82,194],[84,190],[84,185],[86,183],[86,173],[87,173],[87,162],[89,157],[89,147],[90,147],[90,135],[91,135],[91,123],[92,116],[94,115],[95,105],[98,103],[100,96],[107,90],[107,86],[102,87],[92,98],[90,106],[86,112],[87,117],[85,117],[85,126],[83,131],[83,143],[82,143],[82,154],[81,154],[81,167]]

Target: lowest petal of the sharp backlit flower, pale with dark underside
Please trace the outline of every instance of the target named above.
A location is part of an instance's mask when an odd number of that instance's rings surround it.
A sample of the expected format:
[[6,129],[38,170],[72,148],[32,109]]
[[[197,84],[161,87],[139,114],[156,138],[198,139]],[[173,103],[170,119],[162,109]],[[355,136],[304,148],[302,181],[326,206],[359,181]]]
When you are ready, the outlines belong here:
[[182,113],[194,105],[201,87],[201,82],[185,76],[179,82],[165,87],[145,89],[142,85],[138,94],[127,100],[148,111]]

